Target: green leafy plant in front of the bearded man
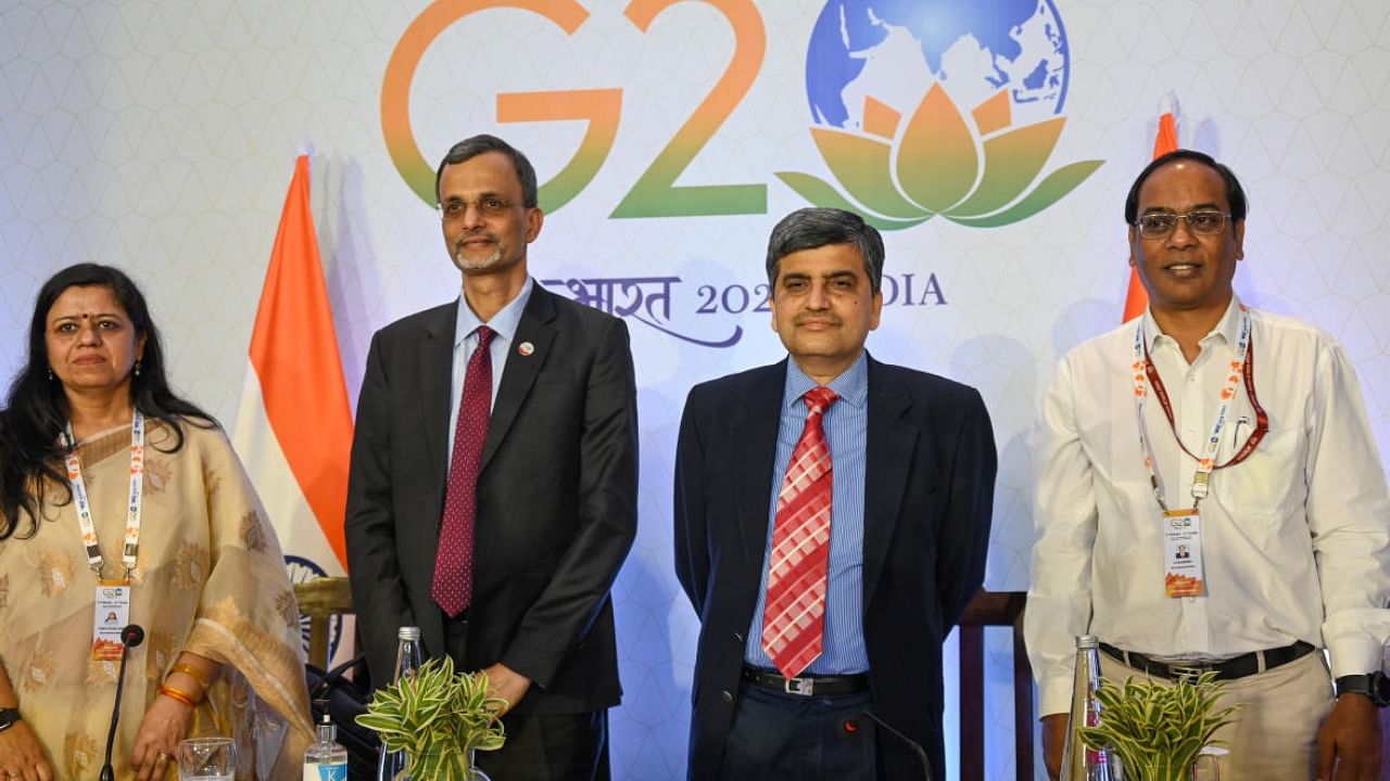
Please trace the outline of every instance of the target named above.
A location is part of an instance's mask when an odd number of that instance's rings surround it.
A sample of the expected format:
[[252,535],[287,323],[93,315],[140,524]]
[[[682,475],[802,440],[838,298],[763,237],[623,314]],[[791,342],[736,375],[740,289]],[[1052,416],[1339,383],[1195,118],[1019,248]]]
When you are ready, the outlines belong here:
[[506,734],[496,714],[506,700],[488,696],[482,673],[455,673],[448,656],[431,659],[414,675],[377,689],[357,724],[381,735],[382,750],[406,752],[406,775],[431,781],[471,781],[473,752],[502,748]]

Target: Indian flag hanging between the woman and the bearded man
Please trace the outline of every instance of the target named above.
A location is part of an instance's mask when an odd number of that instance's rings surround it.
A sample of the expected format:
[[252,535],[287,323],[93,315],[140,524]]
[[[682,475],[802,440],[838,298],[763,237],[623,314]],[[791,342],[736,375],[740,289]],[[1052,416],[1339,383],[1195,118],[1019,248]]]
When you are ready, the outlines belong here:
[[275,527],[291,575],[343,575],[352,410],[318,260],[304,154],[295,161],[247,357],[232,442]]

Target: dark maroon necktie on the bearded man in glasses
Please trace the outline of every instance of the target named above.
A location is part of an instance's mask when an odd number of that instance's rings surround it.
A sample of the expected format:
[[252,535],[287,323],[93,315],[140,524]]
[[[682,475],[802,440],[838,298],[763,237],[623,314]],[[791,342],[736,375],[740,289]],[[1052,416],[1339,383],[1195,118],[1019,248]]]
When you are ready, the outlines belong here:
[[488,345],[496,332],[478,327],[478,347],[468,357],[459,399],[459,422],[453,429],[453,460],[449,466],[449,489],[443,499],[443,523],[439,528],[439,553],[430,595],[450,617],[463,613],[473,602],[473,521],[478,511],[478,467],[482,441],[488,438],[492,411],[492,352]]

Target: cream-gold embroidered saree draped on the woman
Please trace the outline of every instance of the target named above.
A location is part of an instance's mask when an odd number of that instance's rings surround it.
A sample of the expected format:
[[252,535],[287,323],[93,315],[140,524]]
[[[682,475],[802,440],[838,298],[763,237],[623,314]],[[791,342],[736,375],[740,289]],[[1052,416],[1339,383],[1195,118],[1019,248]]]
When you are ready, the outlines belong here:
[[[142,717],[178,655],[224,663],[189,737],[232,735],[238,778],[293,778],[313,742],[299,611],[279,542],[221,429],[147,424],[131,652],[113,766],[132,778]],[[106,577],[121,570],[131,427],[78,447]],[[96,574],[88,568],[72,503],[49,488],[29,539],[0,543],[0,660],[60,780],[96,778],[115,696],[117,663],[92,661]],[[177,777],[175,771],[170,778]]]

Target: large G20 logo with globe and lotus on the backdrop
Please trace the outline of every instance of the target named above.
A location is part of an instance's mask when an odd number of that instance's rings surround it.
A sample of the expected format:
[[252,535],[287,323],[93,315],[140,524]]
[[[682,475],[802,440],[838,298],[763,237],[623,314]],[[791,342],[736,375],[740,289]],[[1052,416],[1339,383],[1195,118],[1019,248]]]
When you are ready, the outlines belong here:
[[[676,185],[746,97],[767,49],[752,0],[631,0],[624,15],[646,32],[684,1],[723,14],[733,58],[610,217],[766,214],[763,183]],[[1037,214],[1101,165],[1062,165],[1034,185],[1065,124],[1070,50],[1052,0],[944,6],[831,0],[823,7],[808,44],[806,93],[809,132],[835,182],[795,171],[777,172],[780,181],[813,204],[856,211],[883,229],[935,215],[990,228]],[[430,206],[434,165],[410,128],[410,83],[443,29],[489,8],[538,14],[566,35],[589,18],[575,0],[435,0],[410,24],[386,65],[381,118],[396,170]],[[963,113],[960,103],[973,108]],[[594,181],[613,150],[621,108],[621,88],[496,96],[500,122],[587,122],[574,157],[541,185],[543,210],[563,207]],[[1019,118],[1027,122],[1016,125]]]

